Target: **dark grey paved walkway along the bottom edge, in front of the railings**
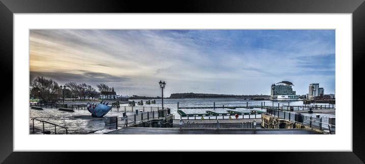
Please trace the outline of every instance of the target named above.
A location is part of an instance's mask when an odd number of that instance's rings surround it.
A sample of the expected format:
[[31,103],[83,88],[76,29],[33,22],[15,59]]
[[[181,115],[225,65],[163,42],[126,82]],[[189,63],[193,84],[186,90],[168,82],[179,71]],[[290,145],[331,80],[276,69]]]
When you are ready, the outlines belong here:
[[225,129],[126,127],[106,134],[320,134],[309,129]]

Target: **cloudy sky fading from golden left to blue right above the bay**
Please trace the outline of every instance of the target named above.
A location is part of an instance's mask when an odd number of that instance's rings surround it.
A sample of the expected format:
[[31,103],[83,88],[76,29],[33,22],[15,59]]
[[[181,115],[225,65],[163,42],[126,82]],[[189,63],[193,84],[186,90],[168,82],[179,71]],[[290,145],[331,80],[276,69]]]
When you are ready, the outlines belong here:
[[270,95],[291,81],[335,89],[335,30],[30,30],[30,82],[37,76],[118,95]]

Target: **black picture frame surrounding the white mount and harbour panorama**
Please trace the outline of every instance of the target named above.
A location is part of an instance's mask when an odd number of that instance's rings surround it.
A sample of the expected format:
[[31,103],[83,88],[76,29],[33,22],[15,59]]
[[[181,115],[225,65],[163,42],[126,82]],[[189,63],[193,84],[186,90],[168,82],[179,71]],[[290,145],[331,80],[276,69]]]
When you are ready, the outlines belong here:
[[[3,76],[0,113],[0,161],[4,163],[65,163],[75,162],[71,157],[83,158],[93,162],[106,162],[115,158],[93,158],[91,152],[13,152],[13,14],[14,13],[352,13],[352,44],[353,44],[353,151],[352,152],[259,152],[248,153],[245,156],[257,157],[264,162],[279,163],[363,163],[365,161],[364,110],[361,108],[360,86],[362,61],[365,54],[365,3],[363,0],[203,0],[203,1],[112,1],[112,0],[0,0],[0,54]],[[349,54],[351,55],[351,54]],[[12,86],[8,87],[8,86]],[[351,108],[351,107],[349,107]],[[269,145],[276,144],[267,141]],[[310,142],[310,141],[308,141]],[[341,141],[338,141],[341,142]],[[40,143],[41,144],[41,143]],[[296,144],[296,143],[293,143]],[[306,144],[300,141],[300,144]],[[362,146],[361,146],[362,145]],[[96,152],[95,152],[96,153]],[[129,153],[122,153],[129,156]],[[103,152],[98,156],[114,156]],[[164,160],[176,160],[184,156],[201,157],[198,153],[175,155],[165,153],[138,153],[138,156],[163,156]],[[219,156],[232,156],[237,153],[213,153],[205,161],[216,160]],[[236,156],[237,157],[237,156]],[[175,159],[174,159],[175,158]],[[271,159],[271,160],[270,160]],[[143,158],[138,158],[142,161]],[[149,160],[145,158],[144,160]],[[240,161],[244,161],[241,158]],[[177,162],[182,162],[177,159]]]

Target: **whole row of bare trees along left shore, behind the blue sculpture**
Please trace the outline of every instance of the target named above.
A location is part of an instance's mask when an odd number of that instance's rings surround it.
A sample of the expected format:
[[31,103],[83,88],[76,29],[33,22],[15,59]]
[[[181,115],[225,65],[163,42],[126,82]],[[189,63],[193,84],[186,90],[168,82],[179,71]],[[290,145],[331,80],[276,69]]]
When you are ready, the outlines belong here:
[[[42,102],[56,102],[58,98],[97,98],[101,91],[107,91],[110,89],[106,84],[98,84],[96,87],[99,92],[96,91],[92,86],[82,83],[77,84],[73,81],[66,83],[65,87],[60,86],[55,80],[50,78],[44,78],[43,76],[37,77],[32,81],[31,84],[31,97],[38,97]],[[62,94],[63,90],[63,94]]]

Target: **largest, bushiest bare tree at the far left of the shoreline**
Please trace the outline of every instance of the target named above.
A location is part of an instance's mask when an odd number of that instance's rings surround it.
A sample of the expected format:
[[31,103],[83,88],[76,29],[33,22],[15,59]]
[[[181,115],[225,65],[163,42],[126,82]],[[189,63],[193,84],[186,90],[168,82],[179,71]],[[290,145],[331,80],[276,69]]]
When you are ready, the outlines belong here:
[[60,93],[60,86],[53,79],[37,77],[33,80],[33,88],[38,88],[39,96],[44,102],[56,102],[57,96]]

